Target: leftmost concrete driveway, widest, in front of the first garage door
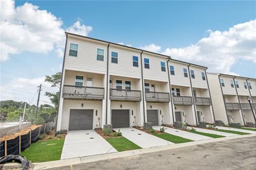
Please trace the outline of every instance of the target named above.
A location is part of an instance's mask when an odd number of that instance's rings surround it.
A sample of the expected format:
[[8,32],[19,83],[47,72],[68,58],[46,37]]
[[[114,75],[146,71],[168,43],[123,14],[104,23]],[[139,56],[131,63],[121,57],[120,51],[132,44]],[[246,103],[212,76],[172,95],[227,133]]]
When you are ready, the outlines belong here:
[[94,130],[68,131],[62,149],[61,159],[111,152],[117,151]]

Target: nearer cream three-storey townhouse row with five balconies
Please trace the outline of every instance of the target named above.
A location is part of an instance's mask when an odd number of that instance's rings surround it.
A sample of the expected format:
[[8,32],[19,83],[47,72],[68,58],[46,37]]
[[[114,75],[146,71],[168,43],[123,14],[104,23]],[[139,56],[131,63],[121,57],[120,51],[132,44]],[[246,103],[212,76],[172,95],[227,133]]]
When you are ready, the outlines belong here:
[[206,69],[66,33],[57,130],[213,123]]

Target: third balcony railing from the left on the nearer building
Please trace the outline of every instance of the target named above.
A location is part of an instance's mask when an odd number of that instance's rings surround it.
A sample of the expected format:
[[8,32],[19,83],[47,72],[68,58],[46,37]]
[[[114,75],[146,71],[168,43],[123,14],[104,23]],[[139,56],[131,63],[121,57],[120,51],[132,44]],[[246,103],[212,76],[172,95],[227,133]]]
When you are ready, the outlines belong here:
[[166,93],[166,92],[146,91],[146,101],[169,102],[170,101],[170,94]]

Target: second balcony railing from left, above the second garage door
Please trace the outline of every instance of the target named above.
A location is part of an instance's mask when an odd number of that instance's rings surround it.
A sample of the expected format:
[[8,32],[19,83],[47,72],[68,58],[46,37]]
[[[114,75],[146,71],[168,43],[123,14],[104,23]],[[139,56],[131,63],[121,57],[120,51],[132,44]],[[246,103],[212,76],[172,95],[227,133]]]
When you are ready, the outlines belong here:
[[141,91],[111,88],[110,89],[110,100],[141,101]]

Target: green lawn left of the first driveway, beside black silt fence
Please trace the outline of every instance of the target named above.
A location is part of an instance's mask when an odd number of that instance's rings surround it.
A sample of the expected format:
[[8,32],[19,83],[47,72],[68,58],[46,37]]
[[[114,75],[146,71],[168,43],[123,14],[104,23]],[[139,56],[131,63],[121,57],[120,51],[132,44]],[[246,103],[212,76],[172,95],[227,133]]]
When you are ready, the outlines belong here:
[[63,145],[64,139],[60,139],[59,141],[58,139],[37,141],[21,152],[20,155],[26,156],[33,163],[60,160]]

